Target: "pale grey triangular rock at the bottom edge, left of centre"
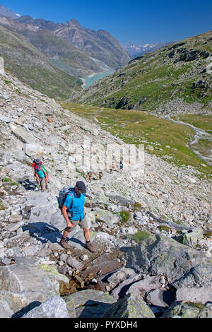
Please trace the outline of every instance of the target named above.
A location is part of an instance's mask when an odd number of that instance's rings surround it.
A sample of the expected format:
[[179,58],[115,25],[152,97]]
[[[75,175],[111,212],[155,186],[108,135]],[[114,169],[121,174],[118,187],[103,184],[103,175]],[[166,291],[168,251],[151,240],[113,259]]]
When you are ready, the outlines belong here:
[[22,318],[69,318],[66,302],[59,296],[54,296],[35,307]]

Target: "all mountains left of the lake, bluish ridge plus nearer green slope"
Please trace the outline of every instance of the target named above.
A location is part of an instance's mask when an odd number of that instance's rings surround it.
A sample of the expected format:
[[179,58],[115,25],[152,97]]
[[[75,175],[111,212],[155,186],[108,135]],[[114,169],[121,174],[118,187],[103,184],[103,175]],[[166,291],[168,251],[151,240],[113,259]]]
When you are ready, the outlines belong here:
[[5,69],[56,99],[73,97],[81,90],[81,78],[114,71],[131,60],[109,32],[83,28],[77,20],[54,23],[1,5],[0,32]]

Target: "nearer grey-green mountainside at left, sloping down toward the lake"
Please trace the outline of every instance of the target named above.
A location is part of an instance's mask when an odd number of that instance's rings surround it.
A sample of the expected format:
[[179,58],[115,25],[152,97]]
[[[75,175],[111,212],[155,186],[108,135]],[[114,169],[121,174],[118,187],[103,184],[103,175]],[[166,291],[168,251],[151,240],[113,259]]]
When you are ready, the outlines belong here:
[[81,80],[52,66],[25,37],[1,25],[0,57],[7,71],[49,97],[66,99],[81,90]]

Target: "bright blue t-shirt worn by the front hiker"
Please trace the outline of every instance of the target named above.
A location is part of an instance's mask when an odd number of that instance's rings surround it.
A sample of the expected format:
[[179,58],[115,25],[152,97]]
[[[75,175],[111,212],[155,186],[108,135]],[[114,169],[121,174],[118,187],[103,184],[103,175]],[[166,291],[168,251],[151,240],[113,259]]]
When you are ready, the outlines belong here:
[[71,220],[83,220],[84,218],[84,203],[85,195],[81,194],[77,197],[75,192],[72,191],[71,195],[67,195],[64,201],[64,206],[67,206],[67,212],[72,214]]

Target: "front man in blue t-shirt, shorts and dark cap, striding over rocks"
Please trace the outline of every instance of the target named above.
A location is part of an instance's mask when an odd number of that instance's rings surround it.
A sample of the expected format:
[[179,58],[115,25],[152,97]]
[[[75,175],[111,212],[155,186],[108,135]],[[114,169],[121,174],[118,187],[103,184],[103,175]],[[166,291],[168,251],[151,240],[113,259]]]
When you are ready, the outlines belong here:
[[69,232],[72,232],[72,230],[76,228],[77,225],[80,225],[81,228],[83,228],[84,237],[86,239],[86,249],[91,252],[95,252],[93,245],[90,243],[90,231],[84,212],[85,196],[86,185],[82,181],[76,182],[76,186],[67,192],[63,206],[61,207],[61,213],[64,215],[67,227],[64,230],[60,244],[65,249],[70,249],[71,247],[69,247],[66,237],[69,235]]

